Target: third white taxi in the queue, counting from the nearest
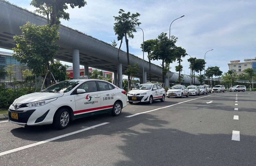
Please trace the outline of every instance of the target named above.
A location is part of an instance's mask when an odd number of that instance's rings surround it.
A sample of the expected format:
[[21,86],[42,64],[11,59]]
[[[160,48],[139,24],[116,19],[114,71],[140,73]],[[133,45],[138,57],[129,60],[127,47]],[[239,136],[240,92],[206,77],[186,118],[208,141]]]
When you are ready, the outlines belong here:
[[183,85],[172,86],[166,92],[166,96],[168,98],[170,98],[170,97],[181,97],[181,98],[183,98],[184,95],[186,97],[189,97],[189,89],[186,86],[183,86]]

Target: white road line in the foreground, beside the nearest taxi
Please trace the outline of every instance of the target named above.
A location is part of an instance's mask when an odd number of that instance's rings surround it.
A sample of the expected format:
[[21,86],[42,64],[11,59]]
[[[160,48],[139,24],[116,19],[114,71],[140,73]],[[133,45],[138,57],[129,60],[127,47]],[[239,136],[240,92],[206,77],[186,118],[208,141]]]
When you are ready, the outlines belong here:
[[67,133],[67,134],[64,134],[64,135],[60,135],[58,137],[54,137],[54,138],[51,138],[51,139],[47,139],[47,140],[44,140],[44,141],[40,141],[40,142],[37,142],[37,143],[34,143],[34,144],[30,144],[30,145],[26,145],[26,146],[22,146],[22,147],[19,147],[19,148],[16,148],[16,149],[12,149],[10,151],[4,151],[4,152],[1,152],[0,153],[0,156],[3,156],[5,154],[8,154],[8,153],[12,153],[12,152],[15,152],[15,151],[20,151],[22,149],[27,149],[27,148],[30,148],[32,146],[36,146],[36,145],[40,145],[40,144],[43,144],[43,143],[47,143],[47,142],[50,142],[50,141],[53,141],[53,140],[56,140],[56,139],[60,139],[60,138],[63,138],[63,137],[67,137],[69,135],[73,135],[73,134],[76,134],[76,133],[80,133],[80,132],[83,132],[83,131],[86,131],[86,130],[89,130],[89,129],[92,129],[92,128],[95,128],[95,127],[99,127],[99,126],[102,126],[102,125],[105,125],[105,124],[108,124],[108,122],[105,122],[105,123],[100,123],[98,125],[94,125],[94,126],[91,126],[91,127],[87,127],[87,128],[84,128],[84,129],[81,129],[81,130],[78,130],[78,131],[74,131],[72,133]]

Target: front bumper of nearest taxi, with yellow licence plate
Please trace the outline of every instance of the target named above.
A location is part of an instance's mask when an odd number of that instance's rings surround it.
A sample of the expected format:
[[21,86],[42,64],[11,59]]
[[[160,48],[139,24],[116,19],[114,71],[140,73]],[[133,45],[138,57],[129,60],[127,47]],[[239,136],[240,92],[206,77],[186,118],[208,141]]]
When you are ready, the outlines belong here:
[[[48,103],[40,107],[21,107],[15,109],[14,106],[10,106],[8,110],[9,122],[18,125],[47,125],[53,123],[53,116],[57,107]],[[12,117],[15,113],[16,117]]]

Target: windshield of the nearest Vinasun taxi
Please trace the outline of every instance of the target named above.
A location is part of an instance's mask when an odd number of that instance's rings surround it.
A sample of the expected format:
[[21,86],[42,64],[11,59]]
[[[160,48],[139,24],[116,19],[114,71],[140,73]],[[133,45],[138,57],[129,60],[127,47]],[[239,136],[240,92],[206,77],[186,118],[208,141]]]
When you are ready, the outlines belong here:
[[74,81],[74,80],[61,81],[52,86],[49,86],[48,88],[42,90],[41,92],[56,92],[56,93],[69,92],[71,89],[77,86],[80,82],[81,81]]

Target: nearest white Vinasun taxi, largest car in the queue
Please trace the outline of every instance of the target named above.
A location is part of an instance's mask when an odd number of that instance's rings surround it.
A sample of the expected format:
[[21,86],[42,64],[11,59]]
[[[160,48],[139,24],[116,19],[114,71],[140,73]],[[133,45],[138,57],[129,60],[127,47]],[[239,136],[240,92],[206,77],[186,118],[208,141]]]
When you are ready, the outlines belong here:
[[71,120],[111,112],[120,115],[126,91],[104,81],[76,79],[58,82],[41,92],[21,96],[8,110],[9,122],[35,126],[54,124],[64,129]]

